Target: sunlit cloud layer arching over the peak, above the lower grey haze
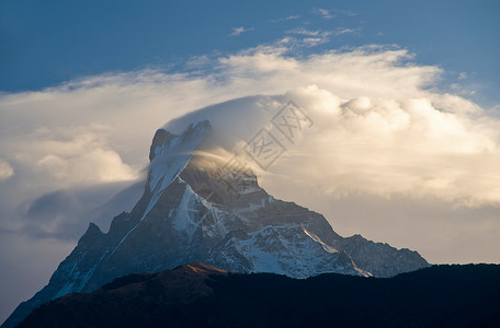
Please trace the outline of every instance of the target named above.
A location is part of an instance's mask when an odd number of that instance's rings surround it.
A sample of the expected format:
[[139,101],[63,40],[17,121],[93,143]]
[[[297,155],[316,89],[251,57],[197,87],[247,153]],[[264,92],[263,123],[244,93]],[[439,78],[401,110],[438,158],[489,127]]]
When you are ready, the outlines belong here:
[[466,98],[432,91],[439,68],[380,46],[302,58],[287,51],[286,43],[260,46],[205,58],[215,69],[192,75],[145,70],[3,95],[0,150],[22,172],[12,184],[30,181],[33,192],[24,195],[35,198],[82,184],[134,180],[159,122],[234,97],[286,93],[328,122],[318,124],[321,132],[309,148],[322,165],[337,167],[318,181],[328,192],[500,200],[491,174],[498,121]]

